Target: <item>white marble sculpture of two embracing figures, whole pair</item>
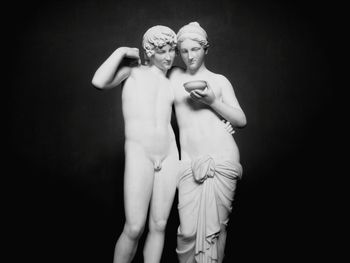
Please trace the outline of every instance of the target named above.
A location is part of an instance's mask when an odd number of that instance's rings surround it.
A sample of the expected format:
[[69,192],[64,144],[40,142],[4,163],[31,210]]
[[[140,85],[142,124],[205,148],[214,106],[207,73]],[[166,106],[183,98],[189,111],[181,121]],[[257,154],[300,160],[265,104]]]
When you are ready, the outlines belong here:
[[[186,69],[171,68],[176,44]],[[176,186],[180,263],[223,260],[226,226],[242,175],[233,127],[244,127],[246,117],[228,79],[206,68],[208,47],[207,34],[197,22],[182,27],[177,37],[171,29],[155,26],[143,37],[145,66],[138,49],[121,47],[94,75],[92,82],[100,89],[124,83],[126,222],[114,263],[131,262],[149,205],[144,262],[160,262]],[[137,65],[124,65],[127,58]],[[180,163],[170,125],[173,103]]]

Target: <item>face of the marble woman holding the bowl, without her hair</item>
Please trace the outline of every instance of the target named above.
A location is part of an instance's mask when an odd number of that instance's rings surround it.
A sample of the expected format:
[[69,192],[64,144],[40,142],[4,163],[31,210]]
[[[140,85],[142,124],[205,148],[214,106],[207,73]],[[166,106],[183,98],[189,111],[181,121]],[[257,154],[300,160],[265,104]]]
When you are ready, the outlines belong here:
[[196,71],[203,64],[207,52],[197,41],[185,39],[180,43],[180,54],[187,69]]

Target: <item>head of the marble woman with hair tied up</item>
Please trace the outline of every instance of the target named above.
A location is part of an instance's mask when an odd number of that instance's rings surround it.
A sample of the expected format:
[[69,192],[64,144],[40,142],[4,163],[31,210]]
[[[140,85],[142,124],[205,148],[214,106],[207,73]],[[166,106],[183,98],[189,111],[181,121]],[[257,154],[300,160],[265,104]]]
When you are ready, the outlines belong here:
[[197,71],[204,63],[209,43],[205,30],[197,22],[180,28],[177,33],[177,48],[189,71]]

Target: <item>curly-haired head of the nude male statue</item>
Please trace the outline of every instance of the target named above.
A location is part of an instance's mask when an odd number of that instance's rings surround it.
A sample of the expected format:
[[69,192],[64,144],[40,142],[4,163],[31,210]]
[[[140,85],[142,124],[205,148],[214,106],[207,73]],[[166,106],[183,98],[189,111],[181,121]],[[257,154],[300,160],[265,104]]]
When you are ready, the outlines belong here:
[[155,65],[162,71],[170,69],[176,43],[176,34],[169,27],[158,25],[148,29],[142,39],[146,64]]

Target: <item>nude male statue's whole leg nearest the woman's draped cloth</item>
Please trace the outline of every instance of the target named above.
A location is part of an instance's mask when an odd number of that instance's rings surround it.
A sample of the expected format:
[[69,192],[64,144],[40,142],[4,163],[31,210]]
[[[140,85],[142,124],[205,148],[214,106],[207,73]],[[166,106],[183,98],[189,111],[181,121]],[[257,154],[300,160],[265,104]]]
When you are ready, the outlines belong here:
[[178,162],[177,154],[168,156],[162,163],[162,169],[155,174],[149,233],[143,251],[145,263],[158,263],[162,256],[165,227],[176,191]]

